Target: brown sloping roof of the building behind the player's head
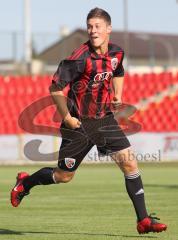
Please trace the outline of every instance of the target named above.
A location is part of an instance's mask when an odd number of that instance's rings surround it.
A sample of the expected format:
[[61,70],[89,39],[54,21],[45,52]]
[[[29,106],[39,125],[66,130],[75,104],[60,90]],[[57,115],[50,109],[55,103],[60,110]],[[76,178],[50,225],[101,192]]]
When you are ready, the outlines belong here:
[[[128,39],[128,40],[127,40]],[[43,50],[37,57],[49,64],[57,64],[88,40],[87,32],[77,29],[67,37]],[[174,60],[178,59],[178,35],[113,31],[111,42],[124,49],[130,59]]]

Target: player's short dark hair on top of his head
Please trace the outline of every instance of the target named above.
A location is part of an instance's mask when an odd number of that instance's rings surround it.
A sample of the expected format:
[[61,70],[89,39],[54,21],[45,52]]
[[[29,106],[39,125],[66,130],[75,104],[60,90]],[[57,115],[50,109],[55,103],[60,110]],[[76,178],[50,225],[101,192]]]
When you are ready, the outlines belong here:
[[108,12],[101,8],[93,8],[87,15],[87,21],[90,18],[103,18],[109,25],[111,25],[111,17]]

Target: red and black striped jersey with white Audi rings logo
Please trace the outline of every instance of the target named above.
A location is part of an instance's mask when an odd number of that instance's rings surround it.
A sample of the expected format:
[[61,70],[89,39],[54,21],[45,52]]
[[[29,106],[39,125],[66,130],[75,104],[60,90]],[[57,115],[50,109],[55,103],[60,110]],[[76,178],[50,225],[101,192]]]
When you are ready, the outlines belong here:
[[111,80],[124,75],[123,57],[115,44],[109,43],[108,52],[101,55],[88,41],[59,64],[53,80],[59,90],[69,85],[72,116],[100,118],[111,112]]

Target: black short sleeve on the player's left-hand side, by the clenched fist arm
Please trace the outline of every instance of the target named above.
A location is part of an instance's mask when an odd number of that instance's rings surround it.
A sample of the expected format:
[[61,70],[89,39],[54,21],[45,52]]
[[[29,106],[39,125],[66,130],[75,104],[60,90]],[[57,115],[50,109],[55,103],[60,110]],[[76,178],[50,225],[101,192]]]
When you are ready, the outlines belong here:
[[82,75],[84,68],[85,61],[63,60],[53,75],[53,83],[57,84],[59,90],[63,90],[68,84]]

